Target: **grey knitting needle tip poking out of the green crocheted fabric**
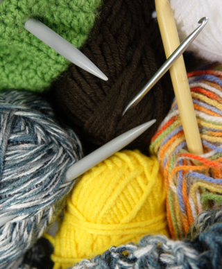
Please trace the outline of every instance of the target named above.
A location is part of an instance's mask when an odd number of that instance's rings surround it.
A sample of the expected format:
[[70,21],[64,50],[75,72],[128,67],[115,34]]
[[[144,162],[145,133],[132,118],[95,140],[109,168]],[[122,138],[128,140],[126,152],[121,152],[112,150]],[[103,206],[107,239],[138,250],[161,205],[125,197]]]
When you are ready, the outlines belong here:
[[96,65],[91,62],[83,53],[81,53],[78,49],[76,49],[75,46],[70,44],[63,37],[58,35],[58,33],[51,30],[51,28],[45,24],[42,24],[41,21],[28,19],[28,21],[26,21],[24,24],[24,28],[42,40],[42,42],[50,46],[51,49],[58,52],[70,62],[76,64],[78,67],[92,73],[94,76],[97,76],[102,80],[108,80],[108,77],[105,76],[105,74],[99,70],[99,68],[96,67]]

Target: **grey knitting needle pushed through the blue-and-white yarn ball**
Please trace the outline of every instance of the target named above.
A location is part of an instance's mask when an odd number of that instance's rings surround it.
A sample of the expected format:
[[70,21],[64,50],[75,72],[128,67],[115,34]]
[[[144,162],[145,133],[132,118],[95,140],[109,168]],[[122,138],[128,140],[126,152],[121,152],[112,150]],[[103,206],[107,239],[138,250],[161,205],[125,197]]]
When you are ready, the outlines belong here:
[[[99,164],[99,162],[102,162],[104,159],[107,159],[112,154],[127,146],[130,144],[130,142],[139,137],[139,135],[145,132],[148,128],[150,128],[151,125],[155,123],[155,121],[156,120],[153,119],[152,121],[148,121],[142,125],[139,125],[129,130],[128,132],[124,132],[123,134],[119,135],[119,137],[112,139],[107,144],[95,150],[93,153],[90,153],[83,159],[80,159],[80,161],[76,162],[76,164],[73,164],[68,168],[67,173],[65,174],[65,179],[62,183],[65,184],[71,180],[76,179],[76,177],[79,177],[96,164]],[[3,214],[6,212],[8,211],[1,211],[0,213]],[[0,227],[15,217],[17,218],[18,216],[10,215],[1,217]]]

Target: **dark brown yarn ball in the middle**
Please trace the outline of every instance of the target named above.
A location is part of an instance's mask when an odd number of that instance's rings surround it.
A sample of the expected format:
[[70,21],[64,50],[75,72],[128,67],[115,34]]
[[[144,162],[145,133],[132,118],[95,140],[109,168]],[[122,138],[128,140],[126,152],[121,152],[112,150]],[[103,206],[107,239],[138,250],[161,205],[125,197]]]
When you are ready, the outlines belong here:
[[151,137],[169,112],[173,87],[167,73],[125,116],[124,108],[166,60],[154,1],[104,0],[87,44],[81,51],[106,76],[103,81],[71,64],[51,88],[59,113],[81,137],[101,146],[135,126],[156,119],[128,146],[147,150]]

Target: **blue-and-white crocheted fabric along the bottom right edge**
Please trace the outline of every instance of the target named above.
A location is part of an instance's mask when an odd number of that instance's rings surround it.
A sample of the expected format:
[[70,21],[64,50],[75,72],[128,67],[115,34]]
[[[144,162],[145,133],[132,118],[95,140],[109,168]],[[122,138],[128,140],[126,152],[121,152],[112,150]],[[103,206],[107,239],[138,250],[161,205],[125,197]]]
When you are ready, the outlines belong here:
[[[190,240],[173,241],[166,236],[145,236],[137,244],[111,247],[102,255],[77,263],[72,269],[221,269],[222,211],[207,210],[192,229],[205,227]],[[212,219],[212,223],[209,220]],[[190,231],[191,232],[191,231]]]

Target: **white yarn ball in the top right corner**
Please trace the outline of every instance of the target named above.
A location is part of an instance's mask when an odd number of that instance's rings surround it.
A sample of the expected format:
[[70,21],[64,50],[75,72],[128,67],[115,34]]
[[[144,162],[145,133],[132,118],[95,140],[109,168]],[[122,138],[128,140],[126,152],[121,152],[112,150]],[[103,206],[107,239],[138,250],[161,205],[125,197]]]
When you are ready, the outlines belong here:
[[202,17],[208,17],[205,28],[187,51],[210,62],[222,62],[222,0],[170,0],[180,42],[198,27]]

